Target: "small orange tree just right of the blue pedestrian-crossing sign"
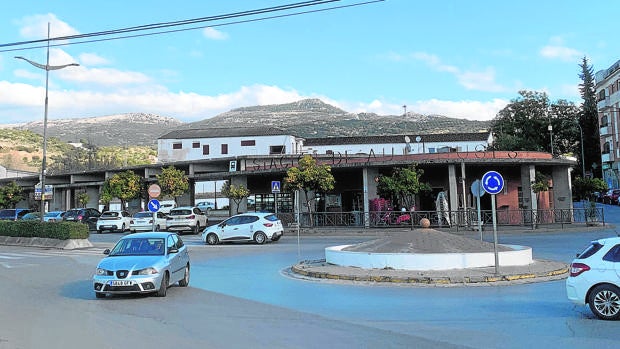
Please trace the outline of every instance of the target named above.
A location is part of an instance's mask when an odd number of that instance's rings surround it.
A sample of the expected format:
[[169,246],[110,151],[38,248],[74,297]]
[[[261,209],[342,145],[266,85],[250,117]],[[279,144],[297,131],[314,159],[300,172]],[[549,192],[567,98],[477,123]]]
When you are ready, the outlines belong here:
[[[284,178],[285,190],[300,190],[304,193],[306,207],[311,215],[310,221],[312,221],[311,204],[316,199],[314,194],[333,190],[335,182],[331,167],[317,164],[310,155],[304,155],[299,159],[298,166],[289,168]],[[310,195],[310,192],[313,192],[313,195]]]

